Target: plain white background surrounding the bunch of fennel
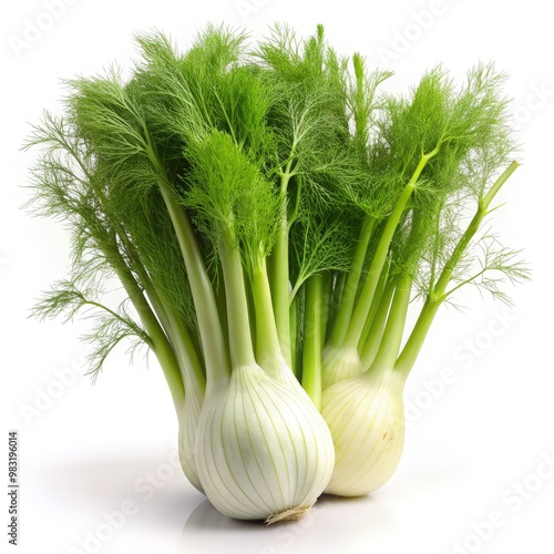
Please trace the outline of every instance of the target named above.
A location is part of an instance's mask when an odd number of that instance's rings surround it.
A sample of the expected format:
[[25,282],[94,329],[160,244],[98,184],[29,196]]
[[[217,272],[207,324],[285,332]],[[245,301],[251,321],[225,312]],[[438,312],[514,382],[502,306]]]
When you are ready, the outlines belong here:
[[[543,461],[554,465],[547,3],[58,0],[54,18],[47,4],[4,2],[0,23],[0,375],[4,433],[20,433],[22,483],[14,552],[554,552],[554,469]],[[176,420],[153,359],[130,365],[121,349],[92,387],[75,377],[86,369],[78,340],[86,324],[28,319],[33,299],[68,265],[63,230],[20,209],[35,155],[19,150],[29,123],[43,109],[60,113],[61,79],[101,72],[114,60],[129,68],[132,33],[155,27],[186,47],[208,21],[246,27],[254,37],[275,21],[302,35],[322,22],[339,52],[360,51],[370,65],[393,69],[391,91],[439,62],[463,78],[479,60],[495,61],[510,74],[522,143],[523,166],[494,217],[505,243],[525,249],[533,281],[514,290],[513,309],[474,296],[465,314],[442,312],[408,383],[406,453],[389,484],[367,499],[324,500],[304,522],[273,529],[218,515],[172,465]],[[33,24],[43,30],[33,34]],[[441,384],[444,371],[451,377]],[[4,459],[7,442],[4,435]],[[113,515],[122,507],[130,509],[124,521]],[[494,526],[483,523],[491,517]],[[91,534],[101,542],[86,541]],[[2,552],[13,550],[4,531],[0,542]]]

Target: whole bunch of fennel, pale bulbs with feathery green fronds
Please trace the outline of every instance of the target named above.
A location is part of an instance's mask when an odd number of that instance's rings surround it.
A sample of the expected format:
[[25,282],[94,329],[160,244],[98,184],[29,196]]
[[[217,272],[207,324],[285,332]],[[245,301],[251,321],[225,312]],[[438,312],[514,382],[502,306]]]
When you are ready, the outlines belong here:
[[517,167],[504,76],[435,68],[381,93],[391,75],[321,27],[255,49],[225,28],[184,53],[136,42],[129,79],[70,81],[29,141],[31,206],[72,237],[37,315],[94,318],[94,376],[122,340],[147,346],[183,470],[222,513],[295,520],[322,492],[370,493],[400,460],[440,306],[466,285],[509,301],[503,283],[527,278],[484,226]]

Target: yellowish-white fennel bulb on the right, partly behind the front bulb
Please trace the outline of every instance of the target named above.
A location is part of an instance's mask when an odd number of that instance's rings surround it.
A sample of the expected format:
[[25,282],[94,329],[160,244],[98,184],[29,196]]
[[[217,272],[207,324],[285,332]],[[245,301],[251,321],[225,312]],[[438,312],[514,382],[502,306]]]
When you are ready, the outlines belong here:
[[326,493],[360,496],[392,476],[404,442],[404,381],[392,369],[365,371],[324,391],[321,413],[336,451]]

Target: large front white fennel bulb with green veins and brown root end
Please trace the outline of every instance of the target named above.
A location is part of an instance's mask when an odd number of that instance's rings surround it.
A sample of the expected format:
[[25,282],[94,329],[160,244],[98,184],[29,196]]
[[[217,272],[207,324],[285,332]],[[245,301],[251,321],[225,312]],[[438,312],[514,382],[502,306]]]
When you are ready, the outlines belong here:
[[234,368],[229,386],[205,401],[196,466],[225,515],[298,520],[327,486],[334,462],[329,429],[308,397],[256,365]]

